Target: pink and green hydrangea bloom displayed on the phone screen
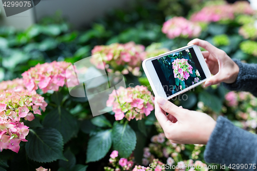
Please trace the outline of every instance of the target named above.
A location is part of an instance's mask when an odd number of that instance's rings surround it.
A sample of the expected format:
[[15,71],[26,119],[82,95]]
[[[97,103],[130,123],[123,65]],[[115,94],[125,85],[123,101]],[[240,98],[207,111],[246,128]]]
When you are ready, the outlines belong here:
[[193,73],[193,67],[188,63],[186,59],[176,59],[172,62],[172,68],[174,77],[178,78],[179,80],[183,81],[184,79],[189,78],[189,73]]

